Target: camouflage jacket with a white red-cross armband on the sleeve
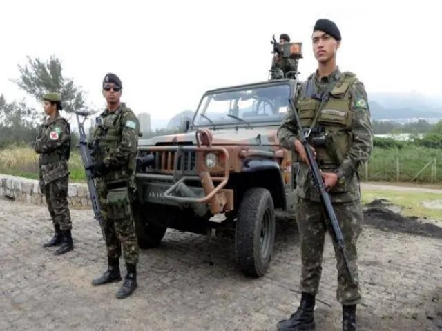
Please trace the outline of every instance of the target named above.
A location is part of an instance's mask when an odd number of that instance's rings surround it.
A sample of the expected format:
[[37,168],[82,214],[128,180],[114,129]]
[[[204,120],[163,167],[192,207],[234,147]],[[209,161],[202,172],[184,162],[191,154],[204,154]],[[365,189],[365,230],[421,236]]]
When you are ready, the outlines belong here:
[[58,115],[46,119],[35,137],[34,150],[39,157],[39,177],[44,184],[67,176],[70,154],[70,126]]

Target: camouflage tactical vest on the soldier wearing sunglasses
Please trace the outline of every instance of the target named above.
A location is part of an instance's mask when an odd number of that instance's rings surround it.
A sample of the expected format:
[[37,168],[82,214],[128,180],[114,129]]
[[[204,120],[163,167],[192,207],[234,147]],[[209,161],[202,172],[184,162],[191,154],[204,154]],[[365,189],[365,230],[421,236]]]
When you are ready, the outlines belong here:
[[[122,131],[124,128],[123,117],[126,112],[131,112],[129,108],[122,106],[116,113],[109,113],[104,119],[102,125],[97,126],[94,137],[97,139],[98,148],[94,155],[95,161],[102,161],[106,154],[116,150],[122,141]],[[104,174],[102,179],[108,183],[117,181],[126,181],[131,174],[135,172],[135,156],[128,159],[125,165],[110,170]]]

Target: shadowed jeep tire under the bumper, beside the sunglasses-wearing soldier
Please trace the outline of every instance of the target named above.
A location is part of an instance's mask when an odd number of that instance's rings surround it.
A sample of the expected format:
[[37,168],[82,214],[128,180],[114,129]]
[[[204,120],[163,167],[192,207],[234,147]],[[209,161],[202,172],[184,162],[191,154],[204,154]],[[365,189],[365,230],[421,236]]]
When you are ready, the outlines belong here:
[[148,218],[146,214],[142,214],[139,208],[134,210],[135,231],[140,248],[157,247],[167,230],[166,226],[157,225],[149,221]]

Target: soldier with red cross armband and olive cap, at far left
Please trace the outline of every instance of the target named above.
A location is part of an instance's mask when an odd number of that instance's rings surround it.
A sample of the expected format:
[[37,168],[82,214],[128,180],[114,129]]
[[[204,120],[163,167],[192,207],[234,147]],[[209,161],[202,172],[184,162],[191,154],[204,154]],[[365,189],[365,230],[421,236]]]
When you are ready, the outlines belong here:
[[59,94],[45,94],[43,100],[44,112],[48,118],[41,125],[39,134],[35,138],[34,150],[40,154],[40,189],[46,197],[55,228],[54,237],[45,243],[44,247],[59,246],[54,254],[60,255],[74,249],[67,199],[70,126],[59,114],[59,110],[63,109]]

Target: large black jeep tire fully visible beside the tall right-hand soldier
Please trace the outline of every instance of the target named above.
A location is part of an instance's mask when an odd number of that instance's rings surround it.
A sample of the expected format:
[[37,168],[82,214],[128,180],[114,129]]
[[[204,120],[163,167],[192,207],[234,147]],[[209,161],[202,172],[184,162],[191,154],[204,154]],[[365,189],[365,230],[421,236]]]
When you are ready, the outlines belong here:
[[269,190],[251,188],[240,203],[236,219],[236,259],[244,274],[262,277],[275,244],[275,208]]

